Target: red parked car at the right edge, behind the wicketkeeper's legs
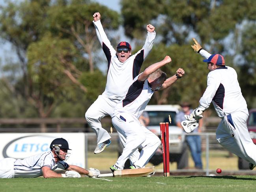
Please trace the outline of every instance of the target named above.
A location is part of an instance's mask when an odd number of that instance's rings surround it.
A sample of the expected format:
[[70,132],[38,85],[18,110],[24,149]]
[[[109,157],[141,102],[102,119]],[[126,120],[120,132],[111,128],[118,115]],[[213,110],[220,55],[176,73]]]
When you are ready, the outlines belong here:
[[[256,108],[249,110],[249,117],[247,119],[247,127],[254,144],[256,144]],[[249,169],[249,162],[242,158],[238,158],[239,170]]]

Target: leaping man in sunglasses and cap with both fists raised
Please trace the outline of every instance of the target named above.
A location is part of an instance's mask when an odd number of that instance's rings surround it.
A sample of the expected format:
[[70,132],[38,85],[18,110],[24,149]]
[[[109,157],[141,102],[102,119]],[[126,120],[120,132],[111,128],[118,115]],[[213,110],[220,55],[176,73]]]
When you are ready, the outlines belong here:
[[[111,46],[100,19],[101,15],[99,12],[93,14],[93,24],[96,29],[96,34],[108,62],[107,84],[105,91],[102,95],[99,95],[85,114],[87,122],[97,136],[95,154],[101,153],[105,147],[111,143],[110,135],[101,126],[101,118],[107,115],[112,117],[116,104],[125,96],[133,79],[138,75],[144,59],[152,49],[156,35],[154,31],[155,27],[148,24],[148,34],[144,46],[136,52],[136,54],[131,55],[131,45],[128,42],[120,42],[116,47],[117,50]],[[119,136],[122,144],[124,144],[125,139],[121,134],[119,134]],[[135,159],[138,158],[138,156],[139,152],[137,151]]]

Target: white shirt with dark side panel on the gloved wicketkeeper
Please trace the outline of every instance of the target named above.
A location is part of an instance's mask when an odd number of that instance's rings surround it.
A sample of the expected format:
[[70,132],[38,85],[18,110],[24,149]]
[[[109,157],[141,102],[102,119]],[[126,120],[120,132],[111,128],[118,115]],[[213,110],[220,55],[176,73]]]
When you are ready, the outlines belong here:
[[[200,54],[206,58],[211,56],[206,50],[200,50]],[[220,67],[209,72],[207,88],[199,103],[200,106],[208,108],[211,102],[219,117],[239,111],[249,115],[247,103],[237,80],[237,73],[232,67]]]

